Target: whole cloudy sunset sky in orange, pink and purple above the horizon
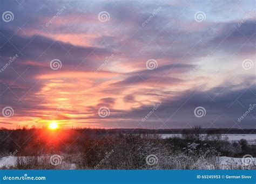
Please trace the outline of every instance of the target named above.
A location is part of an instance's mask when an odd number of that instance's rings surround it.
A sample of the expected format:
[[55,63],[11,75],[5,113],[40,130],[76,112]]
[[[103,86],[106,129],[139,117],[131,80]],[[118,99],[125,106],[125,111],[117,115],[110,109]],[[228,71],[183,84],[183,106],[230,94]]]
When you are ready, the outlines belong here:
[[255,1],[0,10],[0,127],[255,128]]

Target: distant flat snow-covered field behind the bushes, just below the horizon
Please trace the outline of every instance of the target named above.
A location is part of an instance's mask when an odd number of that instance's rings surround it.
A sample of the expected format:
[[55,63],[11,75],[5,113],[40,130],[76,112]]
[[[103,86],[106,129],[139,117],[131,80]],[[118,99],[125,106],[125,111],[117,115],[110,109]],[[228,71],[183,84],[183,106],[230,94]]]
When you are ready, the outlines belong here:
[[[181,134],[161,134],[162,138],[169,137],[181,137]],[[206,134],[202,134],[203,137],[206,137]],[[223,134],[223,138],[227,137],[229,141],[239,141],[240,139],[246,139],[248,144],[256,144],[256,134]]]

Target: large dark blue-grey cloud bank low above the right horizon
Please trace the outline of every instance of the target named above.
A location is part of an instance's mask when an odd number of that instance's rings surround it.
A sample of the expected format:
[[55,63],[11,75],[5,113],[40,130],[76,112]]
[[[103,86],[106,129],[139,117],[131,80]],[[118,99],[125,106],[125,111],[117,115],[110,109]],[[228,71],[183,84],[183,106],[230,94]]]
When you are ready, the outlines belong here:
[[[223,88],[220,87],[220,88]],[[166,123],[169,128],[184,127],[187,123],[191,125],[202,125],[205,127],[212,126],[214,123],[217,127],[232,127],[237,123],[243,128],[255,128],[256,110],[248,114],[244,121],[238,122],[238,118],[242,116],[250,104],[256,104],[256,86],[252,86],[250,89],[242,88],[239,90],[230,90],[229,87],[217,93],[216,89],[208,91],[184,91],[174,97],[163,99],[163,104],[154,111],[152,116],[145,121],[144,125],[148,127],[151,125],[162,125],[161,122]],[[214,97],[214,100],[212,100]],[[157,103],[156,103],[157,104]],[[152,106],[143,105],[140,108],[134,108],[130,112],[126,112],[126,118],[141,119],[152,111]],[[206,115],[202,118],[194,116],[194,109],[197,107],[204,107],[206,109]],[[179,122],[179,123],[178,123]],[[235,122],[235,123],[234,123]],[[178,123],[178,124],[177,124]],[[165,127],[166,128],[166,127]],[[239,128],[235,125],[235,128]]]

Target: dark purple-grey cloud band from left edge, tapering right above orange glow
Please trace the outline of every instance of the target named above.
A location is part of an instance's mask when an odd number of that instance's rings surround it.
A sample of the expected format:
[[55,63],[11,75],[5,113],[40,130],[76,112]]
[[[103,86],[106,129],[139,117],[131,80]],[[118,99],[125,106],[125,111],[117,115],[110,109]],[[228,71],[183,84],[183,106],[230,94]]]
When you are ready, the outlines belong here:
[[2,33],[0,42],[2,56],[9,57],[17,53],[20,55],[20,60],[37,61],[38,63],[46,62],[46,65],[52,59],[57,58],[63,61],[64,69],[73,68],[73,66],[77,66],[82,61],[86,63],[86,68],[92,67],[93,64],[97,65],[95,62],[89,62],[90,60],[97,61],[92,52],[98,58],[110,54],[104,48],[74,46],[44,36],[34,35],[27,37],[14,35],[14,32],[2,29],[0,32]]

